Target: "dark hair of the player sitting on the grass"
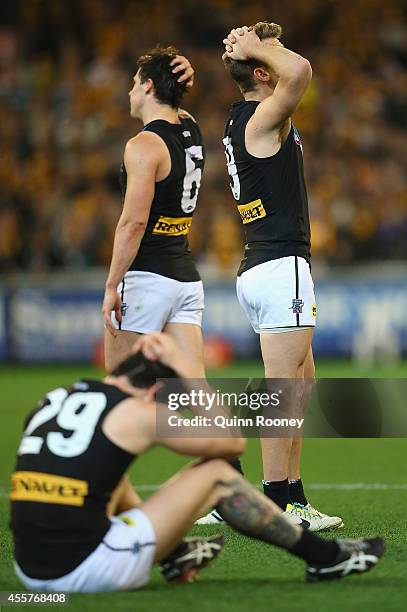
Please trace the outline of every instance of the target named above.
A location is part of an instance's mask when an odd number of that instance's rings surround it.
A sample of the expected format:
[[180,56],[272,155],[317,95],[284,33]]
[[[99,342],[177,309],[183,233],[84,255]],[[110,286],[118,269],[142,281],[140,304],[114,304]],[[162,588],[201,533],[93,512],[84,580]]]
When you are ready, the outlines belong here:
[[142,353],[129,355],[111,373],[111,376],[127,376],[133,387],[149,389],[158,378],[178,378],[178,374],[160,361],[151,361]]

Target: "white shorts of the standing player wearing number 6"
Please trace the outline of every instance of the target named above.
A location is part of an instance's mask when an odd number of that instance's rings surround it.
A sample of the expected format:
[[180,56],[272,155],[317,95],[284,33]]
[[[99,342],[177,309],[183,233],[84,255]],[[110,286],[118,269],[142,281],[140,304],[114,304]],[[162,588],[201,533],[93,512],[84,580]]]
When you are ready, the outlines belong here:
[[123,306],[121,324],[112,313],[116,329],[148,334],[162,331],[167,323],[202,324],[202,281],[181,282],[136,270],[126,272],[117,291]]

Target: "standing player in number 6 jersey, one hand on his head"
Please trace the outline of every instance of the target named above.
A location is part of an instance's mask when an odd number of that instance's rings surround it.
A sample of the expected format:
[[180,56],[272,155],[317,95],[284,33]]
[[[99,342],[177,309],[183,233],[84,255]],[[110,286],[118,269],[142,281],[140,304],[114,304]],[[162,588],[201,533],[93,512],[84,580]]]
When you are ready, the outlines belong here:
[[128,354],[136,334],[165,330],[188,355],[194,376],[205,376],[203,286],[187,238],[205,153],[197,124],[179,110],[193,75],[174,47],[157,47],[137,62],[130,114],[144,128],[128,141],[121,168],[123,211],[102,308],[107,371]]

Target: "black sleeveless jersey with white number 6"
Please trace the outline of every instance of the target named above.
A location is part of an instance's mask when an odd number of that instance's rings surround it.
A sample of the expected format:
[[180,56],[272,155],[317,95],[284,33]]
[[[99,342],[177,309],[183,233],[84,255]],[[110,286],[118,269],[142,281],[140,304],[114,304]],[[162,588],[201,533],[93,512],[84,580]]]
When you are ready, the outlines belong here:
[[[180,124],[157,119],[144,126],[144,131],[163,139],[171,156],[171,171],[155,184],[147,228],[129,270],[154,272],[179,281],[198,281],[200,276],[187,236],[205,162],[201,132],[192,119],[181,119]],[[124,202],[127,185],[124,163],[120,185]]]

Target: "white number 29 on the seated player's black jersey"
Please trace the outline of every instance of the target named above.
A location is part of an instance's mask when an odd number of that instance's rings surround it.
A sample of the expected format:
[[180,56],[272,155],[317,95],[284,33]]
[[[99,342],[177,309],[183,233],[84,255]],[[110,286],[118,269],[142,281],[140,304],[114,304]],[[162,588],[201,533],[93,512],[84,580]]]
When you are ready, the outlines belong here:
[[[66,389],[55,389],[47,394],[49,404],[38,410],[28,423],[18,449],[19,455],[38,455],[44,444],[58,457],[77,457],[84,453],[95,433],[99,417],[106,407],[104,393],[73,393],[68,397]],[[69,432],[48,432],[46,438],[31,435],[41,425],[57,417],[61,429]]]

